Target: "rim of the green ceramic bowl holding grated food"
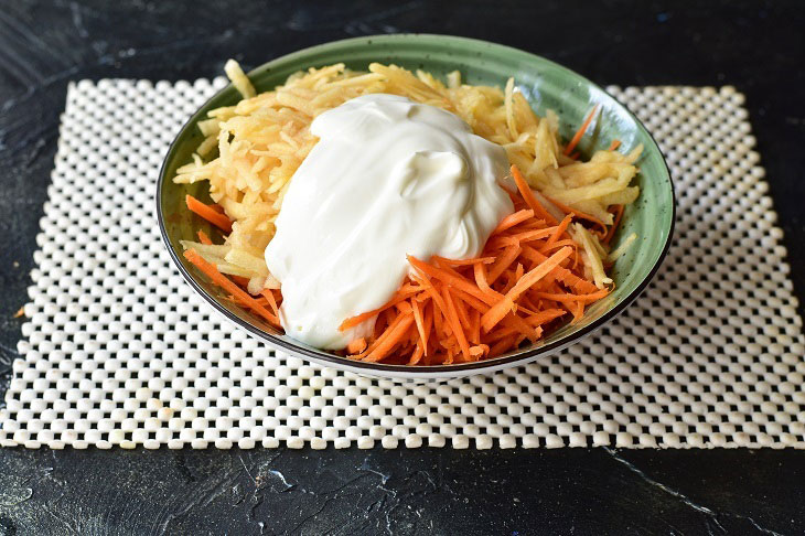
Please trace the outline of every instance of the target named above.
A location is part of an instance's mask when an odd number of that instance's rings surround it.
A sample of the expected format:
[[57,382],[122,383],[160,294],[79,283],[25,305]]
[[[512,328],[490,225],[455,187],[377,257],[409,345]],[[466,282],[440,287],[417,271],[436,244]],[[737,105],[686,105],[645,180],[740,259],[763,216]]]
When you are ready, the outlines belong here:
[[623,105],[620,100],[618,100],[614,96],[612,96],[609,92],[607,92],[604,88],[595,84],[594,82],[588,79],[586,76],[580,75],[579,73],[565,67],[556,62],[552,62],[548,58],[545,58],[538,54],[533,54],[527,51],[523,51],[520,49],[515,49],[513,46],[494,43],[491,41],[485,40],[477,40],[477,39],[471,39],[471,37],[461,37],[455,35],[443,35],[443,34],[433,34],[433,33],[397,33],[397,34],[380,34],[380,35],[364,35],[359,37],[350,37],[350,39],[343,39],[343,40],[336,40],[336,41],[330,41],[326,43],[318,44],[314,46],[309,46],[307,49],[302,49],[289,54],[285,54],[282,56],[276,57],[269,62],[266,62],[251,71],[247,73],[247,76],[251,76],[254,73],[258,71],[264,71],[266,68],[270,68],[273,66],[273,64],[280,63],[280,62],[288,62],[289,60],[294,60],[299,56],[307,56],[314,54],[319,51],[329,49],[333,45],[348,45],[348,44],[357,44],[361,42],[366,43],[368,42],[383,42],[383,41],[397,41],[397,40],[411,40],[416,41],[418,39],[428,37],[428,39],[439,39],[442,41],[452,42],[453,44],[473,44],[473,45],[485,45],[485,46],[492,46],[495,47],[502,52],[509,52],[509,53],[516,53],[516,54],[526,54],[528,56],[533,56],[538,58],[540,62],[545,62],[549,65],[551,65],[555,68],[558,68],[560,71],[565,71],[572,76],[576,76],[583,81],[586,84],[589,84],[591,87],[602,92],[604,95],[612,98],[618,106],[620,106],[627,115],[632,118],[632,120],[635,122],[638,129],[642,129],[645,135],[651,139],[651,141],[654,143],[654,148],[659,152],[661,161],[663,163],[663,170],[665,171],[666,179],[668,180],[668,184],[670,186],[670,226],[668,228],[667,238],[665,240],[665,244],[663,245],[663,249],[661,254],[657,256],[656,261],[652,266],[652,268],[648,270],[648,274],[646,277],[632,290],[629,294],[626,294],[619,303],[616,303],[612,309],[601,314],[601,317],[597,318],[590,324],[581,328],[580,330],[568,334],[565,337],[561,337],[557,341],[554,341],[551,343],[547,344],[538,344],[534,347],[523,350],[522,352],[518,352],[513,355],[503,356],[503,357],[496,357],[492,360],[484,360],[484,361],[476,361],[471,363],[457,363],[457,364],[450,364],[450,365],[428,365],[428,366],[409,366],[409,365],[394,365],[394,364],[386,364],[386,363],[367,363],[363,361],[352,361],[346,357],[342,357],[335,354],[331,354],[324,351],[315,350],[315,349],[309,349],[305,346],[297,345],[292,342],[286,341],[279,336],[272,335],[271,333],[268,333],[255,325],[251,325],[250,323],[244,321],[236,314],[234,314],[232,311],[229,311],[227,308],[223,307],[215,298],[213,298],[210,293],[207,293],[206,290],[204,290],[201,285],[195,280],[195,278],[190,274],[190,271],[185,268],[182,260],[176,255],[175,250],[171,246],[170,237],[168,236],[168,228],[165,226],[165,215],[162,212],[162,187],[163,184],[169,180],[165,175],[167,168],[168,168],[168,161],[170,156],[174,152],[175,146],[179,143],[179,140],[183,138],[183,135],[194,126],[194,118],[198,114],[201,109],[207,106],[207,104],[217,98],[222,93],[232,88],[232,84],[227,84],[226,86],[222,87],[219,90],[217,90],[213,96],[211,96],[205,103],[198,107],[198,109],[193,112],[190,118],[184,122],[182,128],[176,133],[175,138],[171,142],[171,144],[168,148],[168,151],[165,152],[165,157],[162,160],[162,164],[160,167],[159,178],[157,180],[157,195],[155,195],[155,203],[157,203],[157,221],[159,223],[160,227],[160,234],[162,236],[162,242],[165,245],[165,248],[168,249],[168,253],[171,257],[171,260],[173,264],[179,268],[179,271],[181,272],[182,277],[184,277],[184,280],[202,297],[204,300],[207,301],[219,314],[223,314],[227,320],[235,323],[237,326],[245,329],[247,332],[249,332],[251,335],[257,336],[265,343],[268,343],[270,346],[286,351],[290,353],[291,355],[297,355],[299,357],[302,357],[304,360],[309,360],[315,363],[321,363],[329,366],[335,366],[337,368],[344,368],[344,369],[355,369],[356,372],[365,372],[367,374],[388,374],[394,375],[399,378],[421,378],[423,376],[432,376],[433,378],[444,376],[444,375],[466,375],[472,373],[480,373],[484,372],[486,369],[494,371],[500,368],[508,368],[511,366],[516,365],[523,365],[526,363],[530,363],[532,361],[538,358],[543,355],[549,355],[554,352],[557,352],[559,350],[562,350],[567,346],[570,346],[577,342],[579,342],[581,339],[586,337],[587,335],[593,333],[599,328],[603,326],[608,322],[610,322],[612,319],[614,319],[618,314],[620,314],[626,307],[629,307],[636,298],[640,296],[643,290],[648,286],[648,283],[654,279],[657,271],[659,270],[659,267],[663,264],[663,260],[668,254],[668,250],[670,248],[670,244],[674,236],[674,228],[676,223],[676,190],[674,187],[674,181],[670,175],[670,171],[668,169],[668,163],[665,159],[665,156],[663,154],[662,150],[659,150],[659,146],[657,144],[656,139],[654,139],[654,136],[648,131],[648,129],[645,128],[643,122],[630,110],[625,105]]

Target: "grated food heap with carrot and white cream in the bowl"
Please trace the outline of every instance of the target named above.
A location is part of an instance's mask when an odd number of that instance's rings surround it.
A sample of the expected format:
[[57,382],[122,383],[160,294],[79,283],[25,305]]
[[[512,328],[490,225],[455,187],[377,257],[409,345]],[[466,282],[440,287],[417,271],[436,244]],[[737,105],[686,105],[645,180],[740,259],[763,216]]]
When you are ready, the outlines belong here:
[[361,361],[479,361],[611,291],[605,267],[634,236],[608,245],[642,148],[578,160],[597,109],[562,144],[513,79],[339,64],[256,95],[226,71],[244,99],[198,124],[174,179],[210,182],[214,204],[187,206],[226,237],[200,233],[185,257],[289,336]]

